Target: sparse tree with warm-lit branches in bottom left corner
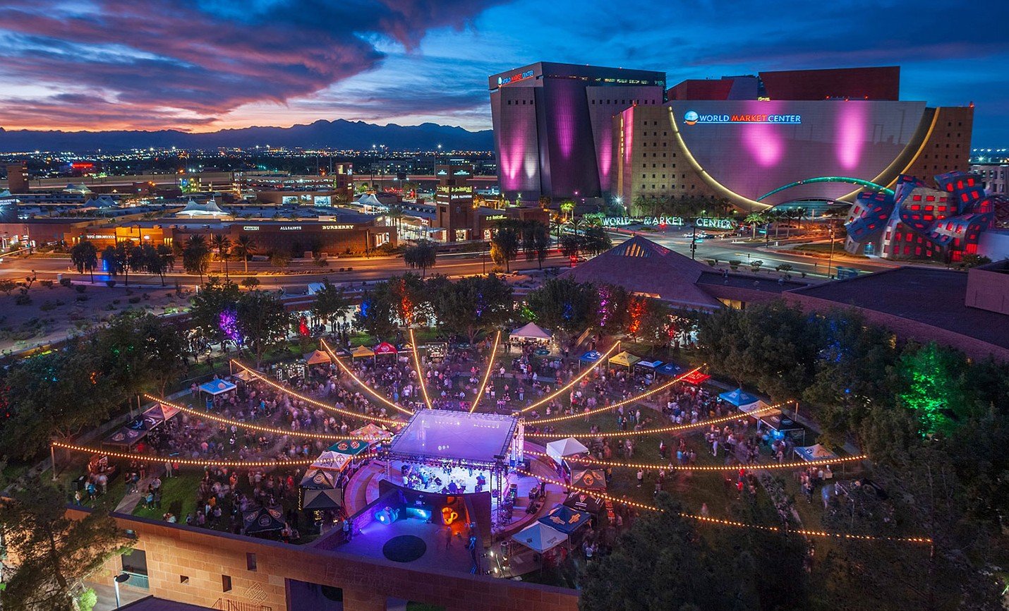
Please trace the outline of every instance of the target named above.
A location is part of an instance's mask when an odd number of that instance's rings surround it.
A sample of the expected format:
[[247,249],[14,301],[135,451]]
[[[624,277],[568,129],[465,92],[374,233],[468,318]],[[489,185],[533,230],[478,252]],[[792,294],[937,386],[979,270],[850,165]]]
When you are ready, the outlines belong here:
[[107,512],[67,517],[64,495],[38,477],[0,505],[3,542],[17,566],[0,591],[4,609],[72,611],[84,581],[131,539]]

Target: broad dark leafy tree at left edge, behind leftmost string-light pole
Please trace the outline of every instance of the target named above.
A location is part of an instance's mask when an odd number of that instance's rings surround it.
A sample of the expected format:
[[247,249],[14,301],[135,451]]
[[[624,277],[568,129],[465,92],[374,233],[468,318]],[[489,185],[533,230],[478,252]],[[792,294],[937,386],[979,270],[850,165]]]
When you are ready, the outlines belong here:
[[3,398],[5,452],[25,460],[44,451],[53,436],[70,438],[109,417],[126,397],[101,371],[99,355],[79,342],[60,352],[18,361],[7,372]]

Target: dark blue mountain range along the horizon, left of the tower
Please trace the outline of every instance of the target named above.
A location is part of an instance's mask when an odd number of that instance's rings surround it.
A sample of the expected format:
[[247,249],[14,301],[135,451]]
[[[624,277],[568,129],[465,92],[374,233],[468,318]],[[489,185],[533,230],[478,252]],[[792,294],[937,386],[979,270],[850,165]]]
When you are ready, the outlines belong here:
[[335,148],[365,150],[373,144],[389,150],[435,150],[439,144],[450,150],[493,150],[490,130],[468,131],[436,123],[420,125],[374,125],[363,121],[319,120],[291,127],[243,127],[192,133],[176,129],[157,131],[36,131],[5,130],[0,127],[0,152],[117,151],[131,148],[215,149],[219,146]]

